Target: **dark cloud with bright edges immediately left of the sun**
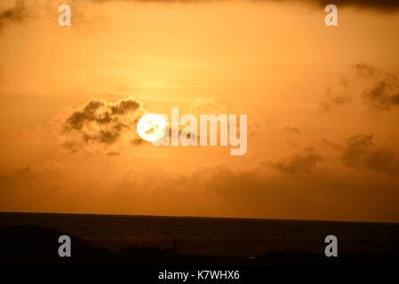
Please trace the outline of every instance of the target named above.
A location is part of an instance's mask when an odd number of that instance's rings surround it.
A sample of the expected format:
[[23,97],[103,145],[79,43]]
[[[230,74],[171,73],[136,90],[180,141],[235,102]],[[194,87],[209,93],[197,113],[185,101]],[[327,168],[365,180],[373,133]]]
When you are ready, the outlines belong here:
[[[125,131],[135,129],[134,126],[142,114],[142,103],[132,97],[116,103],[91,99],[66,118],[63,132],[78,134],[84,144],[97,142],[111,145]],[[77,144],[76,141],[68,141],[65,147],[74,150]]]

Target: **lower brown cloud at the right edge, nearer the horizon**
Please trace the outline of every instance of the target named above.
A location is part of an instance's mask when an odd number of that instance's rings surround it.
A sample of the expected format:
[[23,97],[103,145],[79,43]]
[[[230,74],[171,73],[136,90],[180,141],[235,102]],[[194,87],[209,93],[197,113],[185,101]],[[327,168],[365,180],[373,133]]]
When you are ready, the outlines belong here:
[[395,154],[386,148],[374,146],[374,135],[356,135],[347,138],[342,161],[349,167],[363,167],[377,171],[397,171]]

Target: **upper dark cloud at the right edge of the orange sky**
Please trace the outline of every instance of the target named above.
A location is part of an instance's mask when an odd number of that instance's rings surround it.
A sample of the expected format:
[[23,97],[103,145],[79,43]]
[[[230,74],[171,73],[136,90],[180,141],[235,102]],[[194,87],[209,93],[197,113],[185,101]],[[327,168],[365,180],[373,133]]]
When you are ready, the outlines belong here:
[[367,80],[363,91],[364,103],[371,109],[389,110],[399,106],[399,75],[366,64],[354,66],[357,75]]

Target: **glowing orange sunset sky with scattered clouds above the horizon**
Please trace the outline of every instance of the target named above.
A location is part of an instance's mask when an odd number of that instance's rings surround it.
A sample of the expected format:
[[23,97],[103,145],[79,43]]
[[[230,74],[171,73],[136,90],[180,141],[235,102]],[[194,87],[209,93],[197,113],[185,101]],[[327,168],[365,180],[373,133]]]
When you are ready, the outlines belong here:
[[[0,211],[399,222],[399,3],[361,2],[1,1]],[[247,153],[140,140],[172,106]]]

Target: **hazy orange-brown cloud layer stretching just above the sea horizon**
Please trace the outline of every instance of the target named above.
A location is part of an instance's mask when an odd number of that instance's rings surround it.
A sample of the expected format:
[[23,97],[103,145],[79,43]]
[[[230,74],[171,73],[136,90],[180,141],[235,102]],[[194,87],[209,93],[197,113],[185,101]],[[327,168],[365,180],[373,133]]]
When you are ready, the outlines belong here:
[[[112,164],[116,167],[116,163]],[[385,185],[369,176],[331,172],[310,176],[264,175],[262,167],[234,170],[226,165],[192,175],[168,174],[158,168],[145,174],[109,169],[38,175],[0,175],[0,208],[108,214],[284,217],[340,220],[397,220],[397,183]],[[123,169],[116,167],[117,169]],[[108,170],[108,171],[107,171]],[[104,176],[109,177],[107,182]],[[91,183],[88,183],[90,181]],[[112,182],[111,182],[112,181]],[[27,198],[35,193],[35,198]],[[82,194],[84,193],[84,198]],[[88,202],[89,201],[89,202]],[[334,211],[339,205],[339,210]],[[86,210],[86,211],[85,211]]]

